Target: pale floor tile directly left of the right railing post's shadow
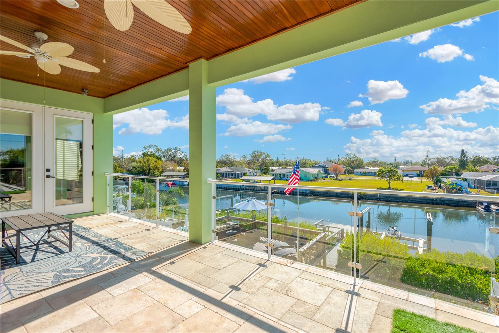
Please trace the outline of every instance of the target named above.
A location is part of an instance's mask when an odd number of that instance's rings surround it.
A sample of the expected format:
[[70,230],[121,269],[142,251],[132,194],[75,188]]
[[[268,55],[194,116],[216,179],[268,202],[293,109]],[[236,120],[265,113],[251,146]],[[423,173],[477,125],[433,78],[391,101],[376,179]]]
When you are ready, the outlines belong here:
[[340,328],[348,298],[349,294],[333,289],[313,316],[313,320],[332,329]]

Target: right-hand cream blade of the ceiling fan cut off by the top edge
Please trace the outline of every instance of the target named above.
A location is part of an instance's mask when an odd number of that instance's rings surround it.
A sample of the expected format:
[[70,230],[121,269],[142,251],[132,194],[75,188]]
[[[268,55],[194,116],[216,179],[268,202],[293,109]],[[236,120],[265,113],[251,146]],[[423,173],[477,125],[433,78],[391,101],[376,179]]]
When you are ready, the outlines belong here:
[[192,27],[170,3],[165,0],[132,0],[132,3],[156,22],[181,33],[191,33]]

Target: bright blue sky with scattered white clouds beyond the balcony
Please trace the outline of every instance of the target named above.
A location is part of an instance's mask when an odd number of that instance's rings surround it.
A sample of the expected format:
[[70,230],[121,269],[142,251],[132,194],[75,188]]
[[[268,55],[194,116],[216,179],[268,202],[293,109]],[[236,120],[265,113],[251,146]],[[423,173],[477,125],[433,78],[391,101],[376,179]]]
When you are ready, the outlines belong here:
[[[499,155],[499,13],[217,88],[217,156]],[[187,96],[114,116],[115,154],[189,151]]]

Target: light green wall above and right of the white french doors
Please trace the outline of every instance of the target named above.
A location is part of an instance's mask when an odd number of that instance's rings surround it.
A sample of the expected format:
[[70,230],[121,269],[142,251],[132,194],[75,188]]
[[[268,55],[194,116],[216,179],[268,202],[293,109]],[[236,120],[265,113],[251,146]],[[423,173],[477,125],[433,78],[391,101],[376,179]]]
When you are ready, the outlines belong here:
[[107,210],[107,183],[104,172],[113,171],[113,116],[112,114],[104,114],[104,100],[45,88],[45,103],[43,103],[43,87],[5,79],[0,80],[0,98],[93,113],[93,212],[95,214],[105,213]]

